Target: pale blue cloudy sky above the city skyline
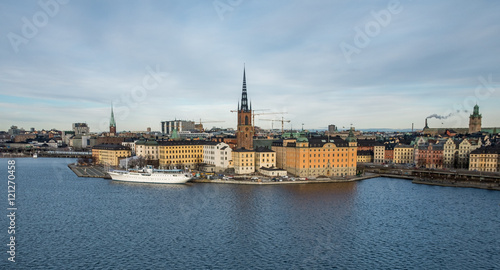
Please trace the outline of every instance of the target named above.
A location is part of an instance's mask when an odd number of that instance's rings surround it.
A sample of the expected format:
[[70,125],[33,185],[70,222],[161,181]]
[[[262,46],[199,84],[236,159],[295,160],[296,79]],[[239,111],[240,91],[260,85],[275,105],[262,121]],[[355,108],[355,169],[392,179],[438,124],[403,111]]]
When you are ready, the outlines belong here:
[[498,14],[481,0],[1,1],[0,130],[107,131],[111,104],[118,131],[236,128],[244,67],[262,128],[467,127],[475,104],[500,127]]

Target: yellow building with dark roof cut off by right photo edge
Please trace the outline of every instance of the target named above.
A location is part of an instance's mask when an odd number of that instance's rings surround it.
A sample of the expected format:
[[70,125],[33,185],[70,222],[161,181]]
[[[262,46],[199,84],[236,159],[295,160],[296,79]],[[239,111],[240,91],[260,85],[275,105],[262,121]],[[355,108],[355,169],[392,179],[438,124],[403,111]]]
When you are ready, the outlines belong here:
[[470,171],[499,172],[500,148],[482,147],[470,153]]

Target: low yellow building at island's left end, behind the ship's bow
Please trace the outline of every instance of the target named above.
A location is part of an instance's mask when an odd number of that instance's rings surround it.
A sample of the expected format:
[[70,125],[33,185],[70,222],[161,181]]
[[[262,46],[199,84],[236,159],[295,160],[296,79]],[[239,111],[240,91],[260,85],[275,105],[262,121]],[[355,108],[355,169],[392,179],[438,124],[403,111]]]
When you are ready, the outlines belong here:
[[130,157],[130,148],[117,144],[99,144],[92,147],[92,158],[96,164],[119,166],[120,160]]

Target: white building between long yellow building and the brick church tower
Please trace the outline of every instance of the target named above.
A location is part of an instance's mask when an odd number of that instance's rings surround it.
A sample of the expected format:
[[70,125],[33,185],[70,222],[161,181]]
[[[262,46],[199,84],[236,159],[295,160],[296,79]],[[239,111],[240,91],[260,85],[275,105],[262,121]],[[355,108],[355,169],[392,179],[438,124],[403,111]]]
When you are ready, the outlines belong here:
[[203,163],[215,166],[216,172],[232,165],[232,149],[223,142],[207,142],[203,145]]

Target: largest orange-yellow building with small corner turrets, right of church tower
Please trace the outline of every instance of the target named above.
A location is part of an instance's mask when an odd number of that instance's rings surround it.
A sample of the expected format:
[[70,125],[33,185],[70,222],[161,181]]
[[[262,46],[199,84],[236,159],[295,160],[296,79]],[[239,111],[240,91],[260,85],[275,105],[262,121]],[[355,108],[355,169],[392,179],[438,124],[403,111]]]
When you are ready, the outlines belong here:
[[346,140],[337,136],[276,141],[276,165],[298,177],[355,175],[357,143],[350,133]]

